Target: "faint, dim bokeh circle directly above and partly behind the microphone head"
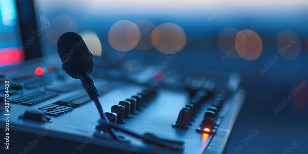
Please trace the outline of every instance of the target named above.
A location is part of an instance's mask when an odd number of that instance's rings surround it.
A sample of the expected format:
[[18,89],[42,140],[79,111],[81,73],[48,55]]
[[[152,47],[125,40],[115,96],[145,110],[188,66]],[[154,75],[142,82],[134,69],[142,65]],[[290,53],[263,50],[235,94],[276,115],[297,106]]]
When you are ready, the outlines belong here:
[[77,32],[77,22],[69,15],[59,15],[50,22],[47,37],[52,44],[57,44],[59,37],[68,31]]

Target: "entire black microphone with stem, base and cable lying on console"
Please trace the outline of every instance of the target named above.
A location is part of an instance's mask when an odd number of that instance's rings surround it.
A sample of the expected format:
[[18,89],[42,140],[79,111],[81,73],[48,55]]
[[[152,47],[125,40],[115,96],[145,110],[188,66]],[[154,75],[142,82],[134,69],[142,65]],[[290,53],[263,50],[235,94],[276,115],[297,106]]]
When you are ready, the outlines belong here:
[[[102,106],[98,100],[98,92],[96,90],[93,79],[90,77],[90,73],[93,71],[93,54],[89,51],[87,45],[83,39],[74,32],[66,32],[60,36],[57,43],[57,50],[59,57],[62,61],[62,69],[72,78],[80,79],[83,88],[87,91],[90,99],[94,101],[101,119],[99,120],[98,130],[94,136],[104,139],[114,139],[122,142],[129,142],[129,140],[122,139],[114,129],[127,133],[136,138],[140,138],[140,135],[125,130],[124,128],[113,126],[109,123],[106,115],[103,112]],[[107,133],[108,132],[108,133]],[[175,148],[177,150],[182,149],[182,144],[174,144],[172,142],[166,142],[160,140],[153,135],[147,138],[147,141],[157,146],[165,148]]]

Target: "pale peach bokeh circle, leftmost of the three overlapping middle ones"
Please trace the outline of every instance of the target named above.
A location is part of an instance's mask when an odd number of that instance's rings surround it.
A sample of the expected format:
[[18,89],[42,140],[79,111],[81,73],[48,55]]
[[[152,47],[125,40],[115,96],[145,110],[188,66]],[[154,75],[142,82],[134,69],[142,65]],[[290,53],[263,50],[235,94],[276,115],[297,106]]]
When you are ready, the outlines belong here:
[[140,40],[138,26],[128,20],[121,20],[113,24],[108,33],[111,47],[117,51],[130,51],[135,48]]

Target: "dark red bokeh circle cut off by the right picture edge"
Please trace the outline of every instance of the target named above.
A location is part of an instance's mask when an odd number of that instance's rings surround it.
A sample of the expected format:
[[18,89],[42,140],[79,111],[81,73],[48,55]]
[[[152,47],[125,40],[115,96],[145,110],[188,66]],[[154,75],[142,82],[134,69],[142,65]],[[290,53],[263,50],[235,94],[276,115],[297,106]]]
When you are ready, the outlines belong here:
[[298,108],[304,108],[308,105],[308,85],[305,79],[298,82],[293,90],[292,97],[293,103]]

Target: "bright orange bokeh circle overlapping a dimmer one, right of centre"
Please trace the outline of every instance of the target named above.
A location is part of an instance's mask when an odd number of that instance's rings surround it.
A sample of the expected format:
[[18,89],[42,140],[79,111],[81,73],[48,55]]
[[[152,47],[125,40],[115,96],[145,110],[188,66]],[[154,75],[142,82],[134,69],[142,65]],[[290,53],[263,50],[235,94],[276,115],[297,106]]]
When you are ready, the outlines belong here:
[[237,54],[246,60],[257,59],[262,52],[262,40],[253,30],[241,30],[237,33],[234,41]]

